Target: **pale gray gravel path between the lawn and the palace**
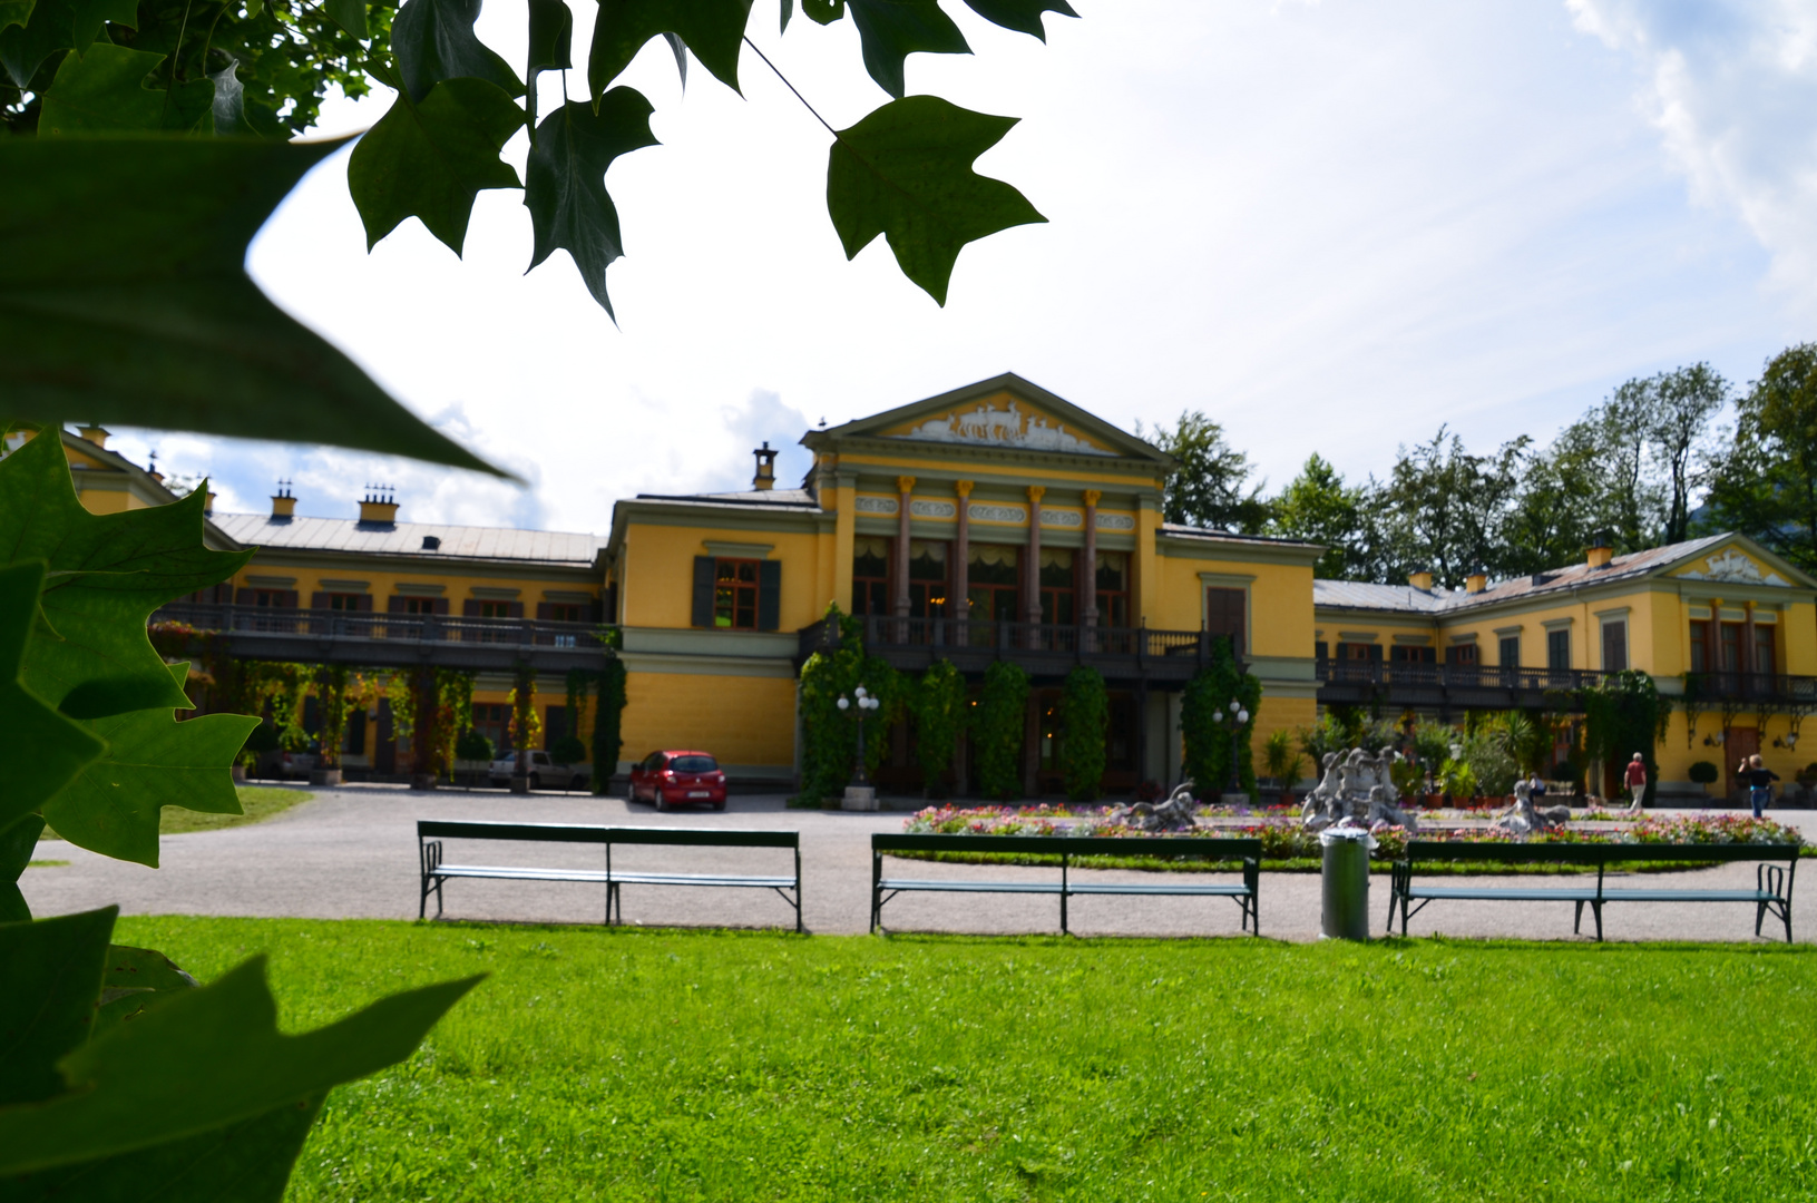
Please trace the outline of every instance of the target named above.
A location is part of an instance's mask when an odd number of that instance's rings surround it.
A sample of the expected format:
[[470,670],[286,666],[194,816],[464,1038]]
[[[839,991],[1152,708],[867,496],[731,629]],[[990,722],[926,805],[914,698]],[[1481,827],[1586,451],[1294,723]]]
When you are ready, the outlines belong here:
[[[878,830],[901,830],[903,814],[789,810],[781,798],[734,796],[723,814],[656,814],[623,798],[581,794],[412,792],[391,785],[314,789],[314,798],[274,820],[227,830],[164,836],[162,869],[84,852],[69,843],[38,845],[42,860],[67,865],[27,869],[20,887],[38,916],[120,903],[127,914],[222,914],[296,918],[414,918],[418,907],[416,820],[540,823],[634,823],[663,827],[743,827],[801,832],[803,910],[810,932],[863,932],[870,910],[870,845]],[[1817,830],[1817,812],[1773,818]],[[478,845],[449,841],[449,860],[596,867],[600,850],[561,845]],[[789,854],[770,849],[621,849],[614,867],[701,872],[787,872]],[[912,865],[912,869],[908,869]],[[918,878],[976,876],[1045,880],[1047,869],[890,861],[887,872]],[[1107,874],[1152,880],[1150,874]],[[1650,878],[1661,887],[1753,885],[1753,865],[1726,865]],[[598,923],[605,887],[547,881],[451,881],[447,918]],[[1793,934],[1817,934],[1817,881],[1793,894]],[[1370,883],[1370,923],[1386,921],[1388,881]],[[1237,907],[1226,898],[1074,898],[1079,936],[1237,936]],[[680,927],[794,927],[794,912],[769,890],[625,887],[627,923]],[[429,912],[434,914],[431,900]],[[1059,901],[1014,894],[908,894],[889,903],[890,930],[1057,932]],[[1588,916],[1586,916],[1588,925]],[[1317,940],[1319,878],[1263,874],[1263,934]],[[1770,921],[1772,923],[1772,921]],[[1610,940],[1752,941],[1753,909],[1724,903],[1630,903],[1604,910]],[[1414,916],[1412,934],[1572,940],[1570,903],[1434,903]],[[1768,929],[1768,938],[1772,930]]]

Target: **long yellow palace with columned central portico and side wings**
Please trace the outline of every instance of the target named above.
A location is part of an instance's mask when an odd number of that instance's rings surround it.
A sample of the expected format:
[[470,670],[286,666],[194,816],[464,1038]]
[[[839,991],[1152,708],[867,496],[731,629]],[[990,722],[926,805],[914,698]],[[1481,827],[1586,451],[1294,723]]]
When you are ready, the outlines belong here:
[[[91,509],[171,500],[104,431],[64,440]],[[1643,669],[1677,701],[1655,749],[1666,792],[1693,790],[1701,760],[1733,771],[1757,749],[1786,780],[1812,760],[1797,740],[1817,705],[1817,582],[1743,536],[1594,547],[1455,592],[1423,574],[1316,582],[1316,545],[1163,522],[1165,452],[1014,374],[801,443],[814,462],[799,487],[778,487],[765,443],[750,489],[621,500],[605,538],[411,523],[385,492],[358,520],[307,518],[280,489],[267,514],[213,514],[213,543],[258,554],[171,612],[223,629],[234,654],[474,671],[474,720],[494,743],[520,674],[538,676],[554,738],[569,727],[561,676],[616,654],[618,772],[690,747],[778,790],[796,780],[796,683],[829,605],[901,671],[945,658],[976,681],[994,660],[1023,665],[1030,796],[1057,792],[1052,712],[1079,663],[1110,689],[1105,790],[1176,781],[1181,689],[1219,640],[1263,683],[1257,751],[1321,707],[1461,721]],[[883,785],[918,789],[908,732],[887,738]],[[376,707],[349,727],[343,763],[403,772],[394,743]],[[961,747],[961,790],[967,760]]]

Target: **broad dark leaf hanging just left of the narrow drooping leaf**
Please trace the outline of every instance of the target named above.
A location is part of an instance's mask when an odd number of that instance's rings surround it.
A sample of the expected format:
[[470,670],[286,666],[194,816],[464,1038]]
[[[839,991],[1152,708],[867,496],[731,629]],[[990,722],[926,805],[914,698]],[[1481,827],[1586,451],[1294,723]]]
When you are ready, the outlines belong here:
[[480,189],[521,187],[498,158],[520,125],[523,109],[485,80],[443,80],[422,102],[398,96],[347,160],[367,249],[414,216],[460,254]]

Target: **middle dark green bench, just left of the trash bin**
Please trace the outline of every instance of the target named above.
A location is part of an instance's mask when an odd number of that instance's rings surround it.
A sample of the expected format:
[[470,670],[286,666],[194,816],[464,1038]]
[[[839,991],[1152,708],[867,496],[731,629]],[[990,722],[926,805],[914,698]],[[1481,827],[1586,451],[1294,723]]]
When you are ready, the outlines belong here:
[[[1018,852],[1059,856],[1059,878],[1050,881],[979,881],[976,878],[885,878],[890,852]],[[1159,874],[1156,881],[1079,881],[1072,867],[1081,856],[1156,856],[1206,861],[1243,861],[1241,881],[1187,881]],[[950,894],[1056,894],[1059,930],[1067,929],[1067,900],[1081,894],[1137,894],[1181,898],[1234,898],[1243,910],[1243,930],[1261,934],[1257,887],[1261,840],[1208,840],[1197,836],[870,836],[870,930],[883,923],[883,903],[908,892]]]

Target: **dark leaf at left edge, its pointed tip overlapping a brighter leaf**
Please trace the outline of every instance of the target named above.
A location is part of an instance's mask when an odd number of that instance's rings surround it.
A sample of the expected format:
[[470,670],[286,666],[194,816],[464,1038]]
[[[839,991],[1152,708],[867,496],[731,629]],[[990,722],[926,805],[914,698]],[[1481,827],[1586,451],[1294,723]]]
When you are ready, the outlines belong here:
[[[98,738],[20,683],[42,589],[42,563],[0,569],[0,731],[15,747],[29,749],[7,769],[5,789],[0,789],[0,829],[7,832],[105,751]],[[0,880],[18,881],[18,874],[0,872]],[[7,916],[0,914],[0,921]]]

